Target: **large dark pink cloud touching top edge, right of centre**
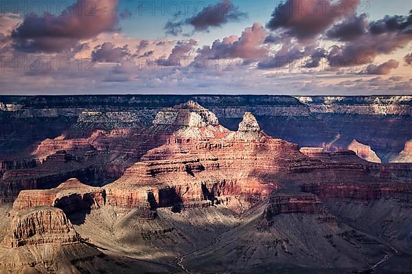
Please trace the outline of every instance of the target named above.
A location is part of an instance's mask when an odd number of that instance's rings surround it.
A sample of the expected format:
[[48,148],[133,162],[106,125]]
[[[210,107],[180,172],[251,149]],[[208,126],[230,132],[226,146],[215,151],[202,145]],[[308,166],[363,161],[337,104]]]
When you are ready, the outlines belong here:
[[312,39],[335,21],[354,14],[358,3],[359,0],[287,0],[277,5],[266,27],[299,40]]

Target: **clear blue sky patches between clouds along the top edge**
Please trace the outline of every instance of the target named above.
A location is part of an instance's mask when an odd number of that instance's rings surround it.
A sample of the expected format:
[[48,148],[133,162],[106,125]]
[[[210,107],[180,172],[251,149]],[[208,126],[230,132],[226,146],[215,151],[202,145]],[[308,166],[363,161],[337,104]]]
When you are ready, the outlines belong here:
[[[190,11],[191,14],[194,13],[194,7],[198,4],[198,7],[202,7],[202,3],[206,5],[210,3],[215,3],[216,1],[186,1],[191,2]],[[271,13],[275,9],[277,3],[281,1],[271,1],[271,0],[260,0],[260,1],[248,1],[248,0],[233,0],[234,5],[238,5],[240,9],[244,12],[247,12],[248,17],[240,22],[232,22],[225,25],[225,27],[218,27],[211,29],[210,32],[199,34],[197,37],[206,42],[213,42],[216,38],[230,36],[231,34],[240,34],[245,25],[252,25],[254,22],[261,22],[262,24],[267,23],[268,18],[270,18]],[[142,38],[161,38],[165,36],[163,27],[165,23],[172,18],[170,14],[165,12],[165,15],[161,15],[157,10],[155,16],[152,15],[152,9],[144,10],[141,12],[142,15],[137,11],[139,3],[150,3],[152,7],[161,6],[162,4],[165,7],[170,7],[170,13],[174,10],[174,7],[170,3],[179,3],[179,7],[183,10],[185,7],[181,1],[131,1],[131,0],[122,0],[119,3],[119,9],[124,10],[128,8],[133,16],[130,20],[124,20],[120,24],[122,31],[130,36],[138,36]],[[153,4],[155,3],[155,4]],[[412,8],[412,5],[409,0],[396,0],[396,1],[387,1],[387,0],[370,0],[362,2],[362,5],[358,7],[359,12],[367,12],[370,14],[371,20],[377,20],[383,18],[386,14],[406,14],[409,9]],[[166,10],[167,8],[165,8]],[[141,27],[144,25],[144,27]]]

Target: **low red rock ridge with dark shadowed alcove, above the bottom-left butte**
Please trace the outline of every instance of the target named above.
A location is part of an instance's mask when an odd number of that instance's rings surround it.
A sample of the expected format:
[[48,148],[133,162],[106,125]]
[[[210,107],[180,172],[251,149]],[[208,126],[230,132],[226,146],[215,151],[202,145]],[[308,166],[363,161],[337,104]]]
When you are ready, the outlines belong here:
[[66,214],[80,210],[100,208],[105,203],[106,194],[101,188],[82,184],[78,179],[69,179],[50,190],[23,190],[13,203],[14,210],[24,210],[35,206],[54,206]]

